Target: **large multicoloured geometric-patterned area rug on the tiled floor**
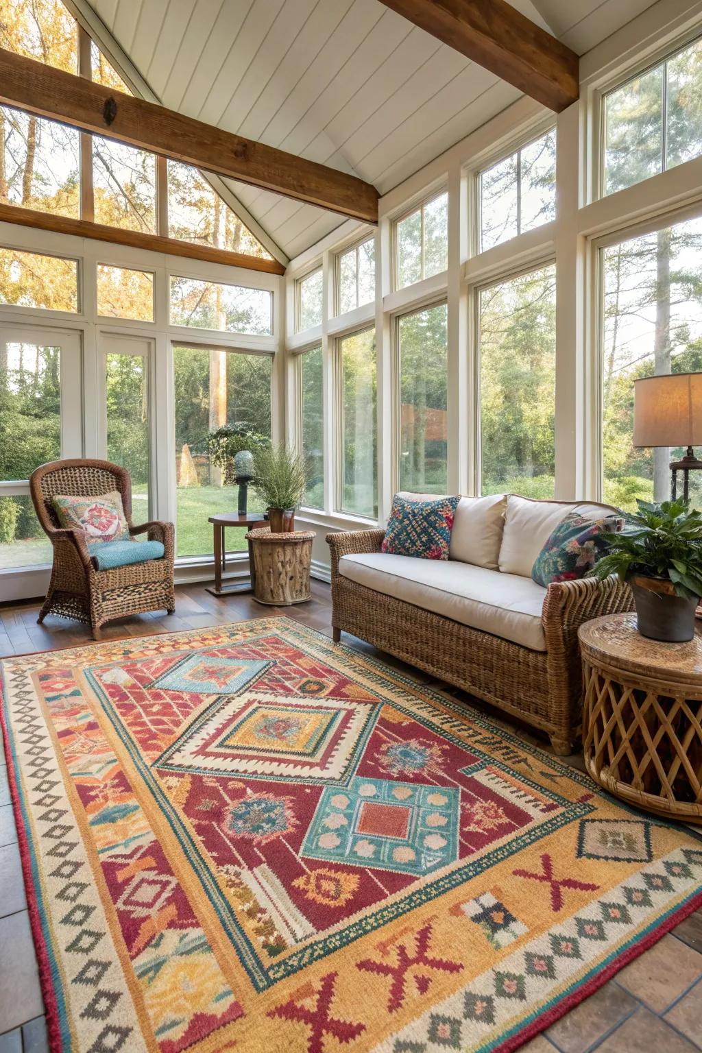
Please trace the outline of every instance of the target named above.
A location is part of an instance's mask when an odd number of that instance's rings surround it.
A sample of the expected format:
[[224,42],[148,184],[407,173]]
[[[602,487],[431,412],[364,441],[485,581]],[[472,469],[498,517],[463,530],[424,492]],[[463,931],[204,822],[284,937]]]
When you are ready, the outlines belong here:
[[4,662],[53,1050],[514,1050],[702,841],[287,618]]

